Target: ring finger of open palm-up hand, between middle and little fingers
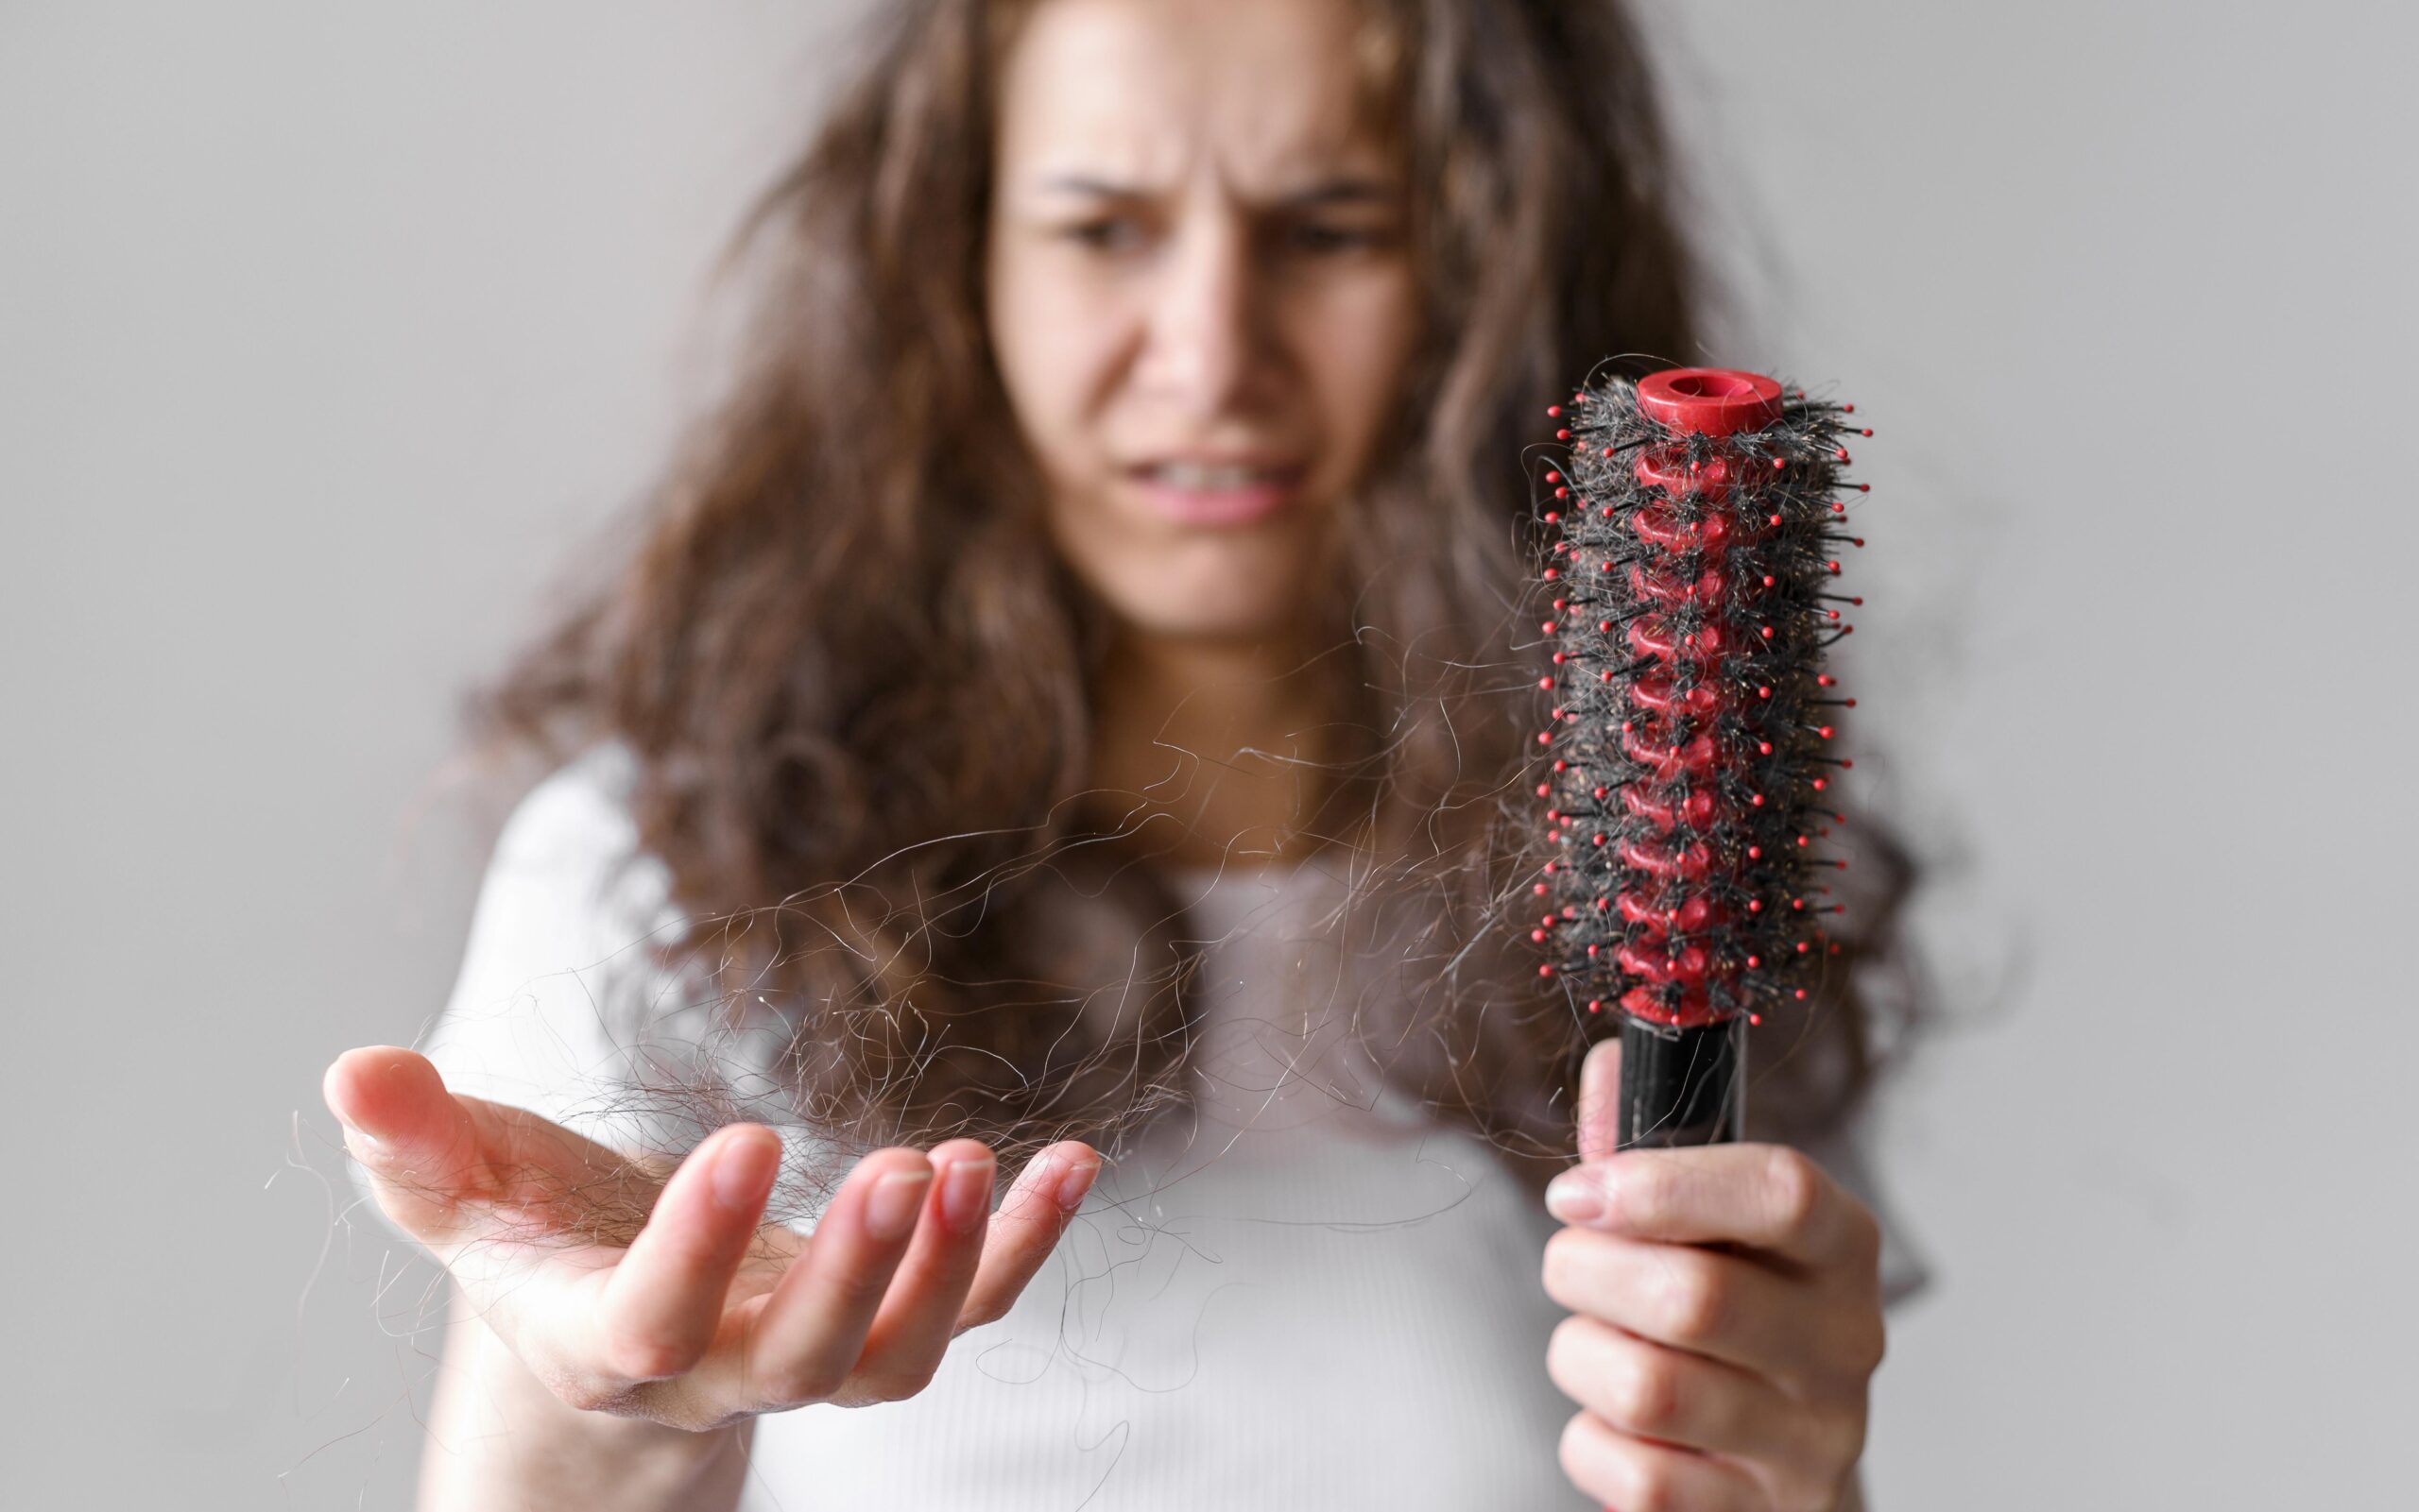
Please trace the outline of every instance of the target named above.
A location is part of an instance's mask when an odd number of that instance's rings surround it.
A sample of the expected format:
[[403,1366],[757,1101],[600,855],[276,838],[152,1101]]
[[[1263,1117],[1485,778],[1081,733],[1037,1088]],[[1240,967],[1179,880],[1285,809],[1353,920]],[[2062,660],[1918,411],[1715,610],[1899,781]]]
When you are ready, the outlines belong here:
[[958,1314],[982,1263],[982,1231],[992,1217],[997,1161],[975,1139],[948,1139],[931,1152],[931,1198],[890,1297],[873,1316],[859,1384],[881,1401],[922,1391],[958,1331]]

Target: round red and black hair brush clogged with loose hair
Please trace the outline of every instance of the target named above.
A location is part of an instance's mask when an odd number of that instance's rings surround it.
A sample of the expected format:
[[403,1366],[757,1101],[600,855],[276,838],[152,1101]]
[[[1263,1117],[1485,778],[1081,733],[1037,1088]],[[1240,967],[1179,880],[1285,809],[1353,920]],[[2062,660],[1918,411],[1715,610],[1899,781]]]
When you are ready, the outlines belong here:
[[1715,1144],[1744,1118],[1747,1026],[1836,953],[1822,873],[1838,697],[1826,648],[1853,404],[1730,368],[1609,380],[1546,414],[1553,719],[1531,939],[1621,1018],[1616,1142]]

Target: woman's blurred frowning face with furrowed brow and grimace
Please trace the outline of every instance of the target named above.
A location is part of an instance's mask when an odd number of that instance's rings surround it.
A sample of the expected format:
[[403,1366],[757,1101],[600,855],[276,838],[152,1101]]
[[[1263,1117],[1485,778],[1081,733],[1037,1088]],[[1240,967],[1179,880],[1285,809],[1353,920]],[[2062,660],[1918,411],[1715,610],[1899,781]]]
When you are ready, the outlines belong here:
[[1350,0],[1043,0],[1009,48],[992,344],[1050,532],[1135,631],[1301,619],[1410,360]]

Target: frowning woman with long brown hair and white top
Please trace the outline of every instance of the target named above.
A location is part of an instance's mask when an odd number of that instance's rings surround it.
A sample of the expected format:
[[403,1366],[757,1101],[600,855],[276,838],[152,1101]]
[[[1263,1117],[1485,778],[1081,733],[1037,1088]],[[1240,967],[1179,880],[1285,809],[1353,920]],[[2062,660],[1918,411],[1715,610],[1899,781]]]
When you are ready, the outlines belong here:
[[1553,1231],[1584,1035],[1483,907],[1522,445],[1691,351],[1621,15],[881,12],[493,699],[585,755],[431,1060],[327,1077],[455,1282],[426,1505],[1851,1505],[1872,1214],[1582,1118]]

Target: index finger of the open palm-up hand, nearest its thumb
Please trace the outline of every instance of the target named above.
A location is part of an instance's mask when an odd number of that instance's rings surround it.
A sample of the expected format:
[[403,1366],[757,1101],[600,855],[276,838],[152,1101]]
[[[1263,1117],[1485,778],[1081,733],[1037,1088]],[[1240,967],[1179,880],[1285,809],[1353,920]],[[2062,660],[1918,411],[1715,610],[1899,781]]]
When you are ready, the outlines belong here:
[[605,1374],[660,1381],[704,1357],[779,1171],[779,1135],[752,1123],[716,1130],[680,1164],[605,1275],[595,1311]]

